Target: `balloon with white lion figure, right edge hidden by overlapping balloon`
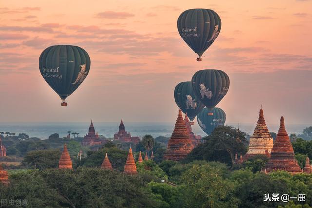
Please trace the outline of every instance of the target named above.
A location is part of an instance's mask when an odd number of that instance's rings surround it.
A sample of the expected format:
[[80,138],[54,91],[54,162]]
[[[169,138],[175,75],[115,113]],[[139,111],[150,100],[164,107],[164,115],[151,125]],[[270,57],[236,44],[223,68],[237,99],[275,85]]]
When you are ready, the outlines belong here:
[[181,82],[176,85],[174,96],[177,106],[187,114],[191,121],[204,108],[192,89],[191,82]]

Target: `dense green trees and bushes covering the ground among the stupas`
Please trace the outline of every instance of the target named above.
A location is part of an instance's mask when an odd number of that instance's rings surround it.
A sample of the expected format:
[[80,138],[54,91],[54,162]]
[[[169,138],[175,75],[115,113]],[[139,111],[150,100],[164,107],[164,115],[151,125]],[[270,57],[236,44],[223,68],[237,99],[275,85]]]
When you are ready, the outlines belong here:
[[[175,162],[162,160],[168,141],[165,137],[146,135],[136,146],[132,144],[134,156],[137,159],[139,151],[143,157],[153,151],[155,159],[137,163],[137,176],[122,173],[130,144],[107,142],[96,151],[85,149],[80,160],[80,142],[66,141],[74,170],[59,170],[56,167],[64,139],[22,139],[14,147],[21,153],[20,142],[29,142],[20,166],[23,169],[9,170],[10,184],[0,184],[0,198],[27,200],[29,207],[38,208],[310,208],[312,174],[260,173],[268,160],[261,156],[233,163],[235,153],[247,151],[245,138],[244,132],[233,127],[219,127],[184,161]],[[292,145],[303,167],[306,156],[312,158],[312,141],[295,138]],[[99,168],[105,153],[113,171]],[[306,198],[304,202],[264,202],[267,193],[305,194]]]

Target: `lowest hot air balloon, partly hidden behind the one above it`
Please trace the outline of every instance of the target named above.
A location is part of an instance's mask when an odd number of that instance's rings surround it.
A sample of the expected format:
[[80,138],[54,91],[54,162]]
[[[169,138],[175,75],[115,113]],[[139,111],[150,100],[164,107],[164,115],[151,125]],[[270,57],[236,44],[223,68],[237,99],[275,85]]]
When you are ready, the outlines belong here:
[[220,108],[211,110],[204,108],[198,113],[197,122],[200,128],[209,135],[217,126],[224,125],[225,118],[225,112]]

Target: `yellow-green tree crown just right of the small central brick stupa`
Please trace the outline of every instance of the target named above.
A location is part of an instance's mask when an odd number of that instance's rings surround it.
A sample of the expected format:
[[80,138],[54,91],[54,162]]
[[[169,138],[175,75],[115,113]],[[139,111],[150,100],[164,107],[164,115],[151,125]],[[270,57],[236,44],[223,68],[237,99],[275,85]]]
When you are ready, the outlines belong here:
[[166,173],[161,168],[159,168],[159,166],[153,160],[143,160],[142,163],[137,163],[137,172],[168,180]]

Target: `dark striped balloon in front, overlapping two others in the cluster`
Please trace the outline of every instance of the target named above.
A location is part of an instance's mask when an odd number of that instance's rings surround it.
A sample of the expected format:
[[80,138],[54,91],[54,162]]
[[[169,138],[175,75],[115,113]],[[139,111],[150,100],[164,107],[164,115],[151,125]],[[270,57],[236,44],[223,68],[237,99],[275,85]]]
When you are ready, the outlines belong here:
[[217,69],[205,69],[192,77],[192,87],[198,99],[207,107],[214,108],[228,92],[229,76]]

